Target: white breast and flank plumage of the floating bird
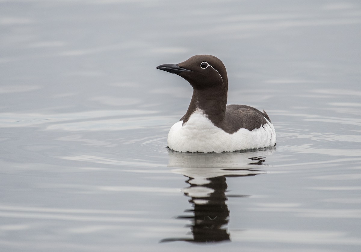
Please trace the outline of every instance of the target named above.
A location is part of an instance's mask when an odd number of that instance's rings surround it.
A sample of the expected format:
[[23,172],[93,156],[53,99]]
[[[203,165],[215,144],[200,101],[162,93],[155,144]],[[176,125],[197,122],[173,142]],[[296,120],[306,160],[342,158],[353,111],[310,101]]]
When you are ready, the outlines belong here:
[[168,147],[181,152],[231,152],[273,146],[276,143],[276,133],[272,123],[267,119],[266,121],[259,129],[239,129],[229,134],[214,126],[197,109],[183,126],[183,121],[179,121],[171,127]]

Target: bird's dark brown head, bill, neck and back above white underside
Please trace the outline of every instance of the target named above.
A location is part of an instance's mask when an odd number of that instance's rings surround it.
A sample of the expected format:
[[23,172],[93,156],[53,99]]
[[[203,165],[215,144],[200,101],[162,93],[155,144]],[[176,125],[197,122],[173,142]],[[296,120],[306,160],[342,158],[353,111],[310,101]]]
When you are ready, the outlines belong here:
[[179,64],[160,65],[157,69],[175,73],[193,87],[191,103],[180,120],[183,120],[183,125],[197,108],[203,110],[215,126],[229,134],[240,128],[250,131],[258,129],[267,123],[265,118],[269,120],[265,111],[247,105],[227,106],[227,71],[217,57],[196,55]]

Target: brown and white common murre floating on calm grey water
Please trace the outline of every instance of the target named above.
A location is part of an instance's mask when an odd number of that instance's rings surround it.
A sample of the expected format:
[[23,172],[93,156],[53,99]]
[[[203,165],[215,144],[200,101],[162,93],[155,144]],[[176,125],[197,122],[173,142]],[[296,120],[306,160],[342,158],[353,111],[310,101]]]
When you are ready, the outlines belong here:
[[187,113],[168,134],[168,147],[180,152],[232,152],[273,146],[270,118],[246,105],[228,105],[227,71],[212,55],[196,55],[157,69],[177,74],[193,87]]

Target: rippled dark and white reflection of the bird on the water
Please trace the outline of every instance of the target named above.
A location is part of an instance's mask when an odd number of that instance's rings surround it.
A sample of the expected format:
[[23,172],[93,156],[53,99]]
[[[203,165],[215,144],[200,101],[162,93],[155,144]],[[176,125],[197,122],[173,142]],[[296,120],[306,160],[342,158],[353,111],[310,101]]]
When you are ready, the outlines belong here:
[[[227,201],[227,177],[254,176],[265,173],[257,168],[271,155],[274,148],[262,152],[243,153],[179,153],[169,152],[169,166],[177,167],[174,173],[187,177],[183,193],[190,199],[192,209],[177,218],[186,218],[192,237],[166,238],[161,242],[222,242],[230,241],[227,230],[230,211]],[[257,156],[256,156],[257,155]],[[228,195],[247,197],[247,195]]]

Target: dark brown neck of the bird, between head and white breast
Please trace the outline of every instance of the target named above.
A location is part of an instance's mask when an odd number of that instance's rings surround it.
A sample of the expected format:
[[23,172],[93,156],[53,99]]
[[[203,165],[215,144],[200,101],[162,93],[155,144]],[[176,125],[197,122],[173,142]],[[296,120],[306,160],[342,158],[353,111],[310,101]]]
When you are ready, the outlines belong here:
[[193,89],[191,103],[183,118],[183,125],[196,109],[202,110],[214,125],[219,125],[225,118],[226,106],[227,88],[223,88],[222,90],[219,90],[219,87],[213,90],[211,88],[207,90]]

